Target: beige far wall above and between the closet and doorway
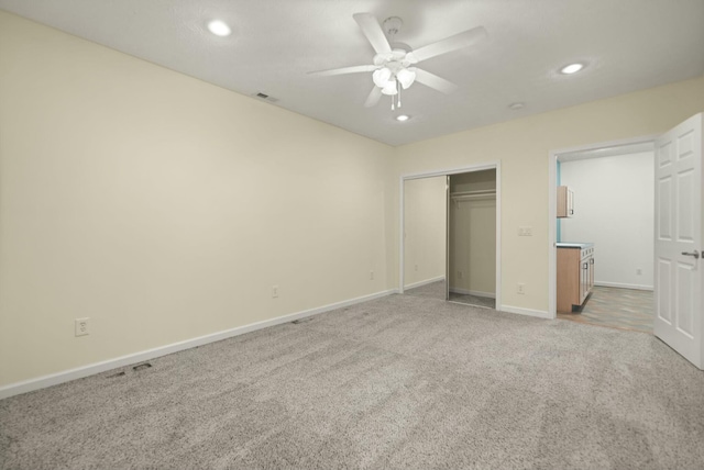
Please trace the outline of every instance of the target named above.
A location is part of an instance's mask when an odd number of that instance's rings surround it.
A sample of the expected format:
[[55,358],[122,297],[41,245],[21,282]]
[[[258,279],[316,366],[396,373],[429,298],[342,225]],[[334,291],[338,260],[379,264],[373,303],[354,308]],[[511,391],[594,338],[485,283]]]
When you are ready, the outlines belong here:
[[[398,176],[501,161],[502,303],[548,311],[549,152],[662,133],[704,110],[704,77],[396,148]],[[398,181],[398,178],[395,179]],[[519,226],[532,227],[518,237]],[[526,284],[526,293],[516,292]]]

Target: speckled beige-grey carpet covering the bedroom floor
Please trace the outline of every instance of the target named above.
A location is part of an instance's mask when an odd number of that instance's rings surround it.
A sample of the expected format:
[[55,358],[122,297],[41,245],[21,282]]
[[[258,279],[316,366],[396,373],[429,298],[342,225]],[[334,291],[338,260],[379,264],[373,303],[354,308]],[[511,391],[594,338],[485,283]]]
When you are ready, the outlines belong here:
[[151,363],[0,401],[0,468],[704,468],[650,335],[392,295]]

